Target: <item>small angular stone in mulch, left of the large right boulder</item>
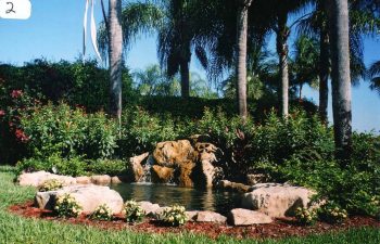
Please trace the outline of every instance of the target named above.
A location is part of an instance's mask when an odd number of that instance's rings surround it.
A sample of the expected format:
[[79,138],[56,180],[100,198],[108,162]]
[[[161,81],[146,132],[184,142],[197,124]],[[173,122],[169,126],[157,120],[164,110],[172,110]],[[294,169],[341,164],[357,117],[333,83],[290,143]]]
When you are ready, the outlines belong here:
[[228,214],[227,219],[228,223],[232,226],[252,226],[273,222],[273,219],[263,213],[243,208],[232,209]]

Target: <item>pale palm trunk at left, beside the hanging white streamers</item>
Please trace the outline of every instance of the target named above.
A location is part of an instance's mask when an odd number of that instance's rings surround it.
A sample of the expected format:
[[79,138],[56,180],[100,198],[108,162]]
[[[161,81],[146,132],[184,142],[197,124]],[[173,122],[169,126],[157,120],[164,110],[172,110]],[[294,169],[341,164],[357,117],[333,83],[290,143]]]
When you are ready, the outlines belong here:
[[110,114],[122,121],[122,0],[109,0]]

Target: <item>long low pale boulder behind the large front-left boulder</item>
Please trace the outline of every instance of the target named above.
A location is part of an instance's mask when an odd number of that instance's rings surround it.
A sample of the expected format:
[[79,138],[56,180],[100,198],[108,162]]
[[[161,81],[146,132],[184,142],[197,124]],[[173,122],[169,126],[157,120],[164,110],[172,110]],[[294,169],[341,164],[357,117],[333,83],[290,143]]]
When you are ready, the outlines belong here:
[[61,181],[64,185],[76,184],[76,179],[68,176],[59,176],[50,174],[47,171],[37,171],[37,172],[23,172],[18,176],[17,182],[20,185],[29,185],[29,187],[41,187],[45,181],[56,179]]

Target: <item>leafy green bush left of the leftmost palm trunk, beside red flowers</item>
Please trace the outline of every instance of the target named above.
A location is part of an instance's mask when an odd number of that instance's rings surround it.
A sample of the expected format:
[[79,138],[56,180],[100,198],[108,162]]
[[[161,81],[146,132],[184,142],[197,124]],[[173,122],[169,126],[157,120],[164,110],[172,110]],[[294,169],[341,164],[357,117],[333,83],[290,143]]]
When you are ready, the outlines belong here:
[[30,155],[38,158],[53,154],[103,158],[112,156],[116,147],[114,120],[104,113],[86,114],[64,103],[38,106],[31,114],[22,114],[21,126],[29,138]]

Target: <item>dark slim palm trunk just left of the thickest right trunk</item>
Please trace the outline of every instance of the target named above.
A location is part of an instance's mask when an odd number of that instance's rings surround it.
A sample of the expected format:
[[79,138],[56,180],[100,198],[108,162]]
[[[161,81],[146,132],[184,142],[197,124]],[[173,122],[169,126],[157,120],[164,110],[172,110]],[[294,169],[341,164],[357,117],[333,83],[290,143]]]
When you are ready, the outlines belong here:
[[[328,5],[325,0],[318,2],[317,8],[322,13],[328,11]],[[319,117],[325,125],[328,125],[330,40],[329,31],[324,20],[319,22]]]

